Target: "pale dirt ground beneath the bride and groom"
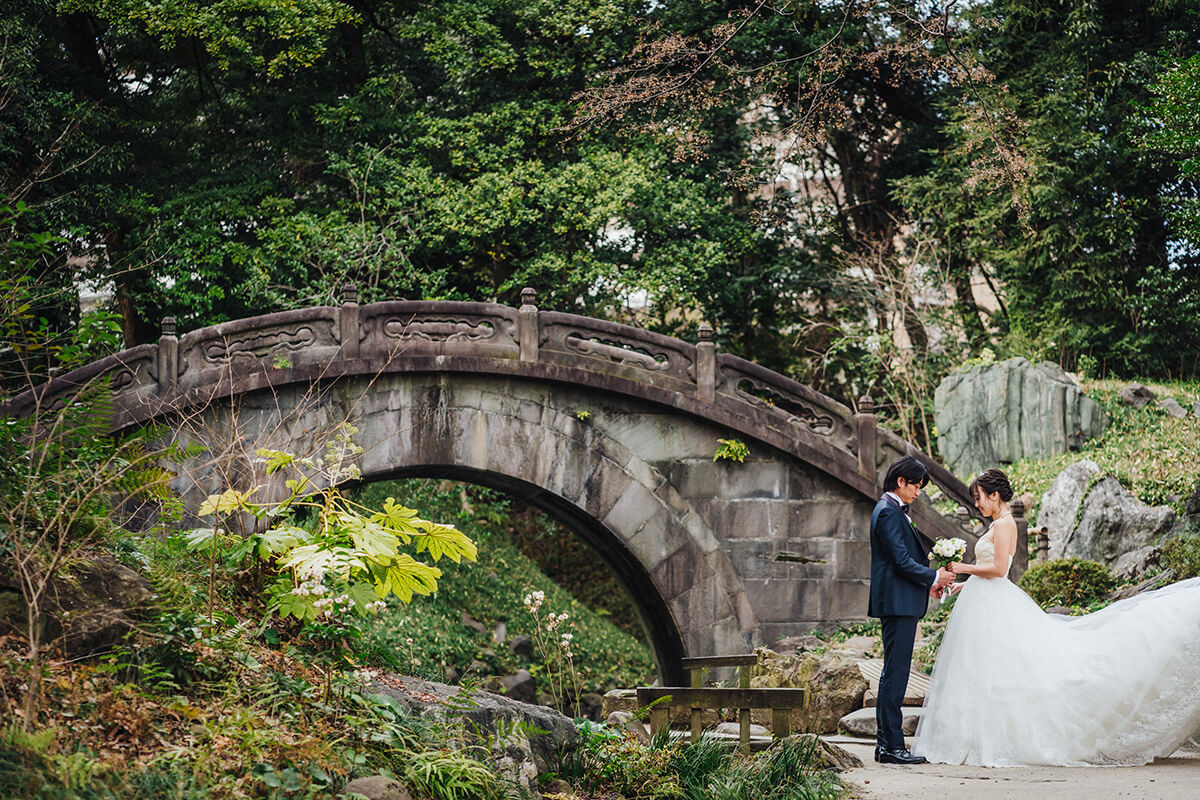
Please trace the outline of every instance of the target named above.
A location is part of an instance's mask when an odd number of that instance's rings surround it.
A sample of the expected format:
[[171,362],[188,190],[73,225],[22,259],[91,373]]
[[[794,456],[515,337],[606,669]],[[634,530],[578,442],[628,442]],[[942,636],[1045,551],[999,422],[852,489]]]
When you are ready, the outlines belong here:
[[1195,800],[1200,798],[1200,748],[1181,750],[1146,766],[985,768],[876,764],[874,742],[845,736],[830,741],[865,766],[842,774],[856,800]]

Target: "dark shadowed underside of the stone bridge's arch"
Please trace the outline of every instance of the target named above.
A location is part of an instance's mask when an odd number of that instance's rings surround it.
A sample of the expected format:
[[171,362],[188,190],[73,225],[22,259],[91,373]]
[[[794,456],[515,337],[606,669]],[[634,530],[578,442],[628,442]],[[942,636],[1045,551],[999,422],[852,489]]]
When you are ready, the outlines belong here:
[[[652,576],[637,555],[601,521],[570,500],[528,481],[460,464],[400,467],[386,473],[372,474],[364,481],[364,486],[404,479],[455,481],[481,486],[502,492],[545,513],[570,535],[582,541],[604,563],[613,579],[630,599],[637,615],[636,621],[654,657],[660,682],[678,686],[680,684],[674,681],[684,680],[680,666],[680,660],[685,655],[683,636],[666,599],[655,588]],[[419,511],[422,510],[419,509]],[[481,552],[480,560],[486,561],[486,552]],[[571,590],[570,585],[559,585],[568,591]],[[469,612],[470,609],[464,610]]]

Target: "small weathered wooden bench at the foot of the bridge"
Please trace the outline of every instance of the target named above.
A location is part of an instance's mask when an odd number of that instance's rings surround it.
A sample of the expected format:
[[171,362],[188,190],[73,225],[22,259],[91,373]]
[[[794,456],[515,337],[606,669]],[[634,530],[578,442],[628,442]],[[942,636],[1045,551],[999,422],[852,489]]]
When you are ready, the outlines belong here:
[[[704,709],[737,709],[738,741],[743,751],[750,750],[750,710],[770,709],[770,729],[776,738],[792,732],[792,709],[809,704],[808,688],[750,688],[750,667],[758,663],[754,654],[736,656],[710,656],[684,658],[683,668],[690,675],[691,686],[638,686],[637,703],[650,708],[650,735],[658,736],[671,724],[671,709],[691,710],[691,741],[697,741],[703,732]],[[704,670],[714,667],[737,667],[737,688],[706,688]]]

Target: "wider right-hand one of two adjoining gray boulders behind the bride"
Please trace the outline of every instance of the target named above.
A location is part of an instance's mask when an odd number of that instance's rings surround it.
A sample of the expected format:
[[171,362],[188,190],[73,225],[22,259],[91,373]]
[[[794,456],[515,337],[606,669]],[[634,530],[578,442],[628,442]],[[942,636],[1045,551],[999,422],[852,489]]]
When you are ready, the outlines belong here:
[[1114,566],[1121,555],[1159,541],[1174,524],[1170,506],[1147,506],[1106,475],[1084,499],[1079,525],[1067,537],[1063,557]]

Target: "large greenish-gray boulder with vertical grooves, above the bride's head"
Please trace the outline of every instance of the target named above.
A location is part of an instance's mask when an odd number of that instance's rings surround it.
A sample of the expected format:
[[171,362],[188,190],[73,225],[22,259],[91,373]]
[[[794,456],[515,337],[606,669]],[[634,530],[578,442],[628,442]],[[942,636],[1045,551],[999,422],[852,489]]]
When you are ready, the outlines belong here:
[[934,392],[937,447],[960,475],[1079,450],[1109,420],[1056,363],[1025,359],[960,369]]

